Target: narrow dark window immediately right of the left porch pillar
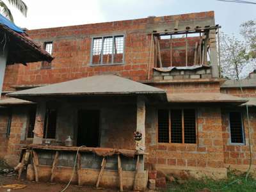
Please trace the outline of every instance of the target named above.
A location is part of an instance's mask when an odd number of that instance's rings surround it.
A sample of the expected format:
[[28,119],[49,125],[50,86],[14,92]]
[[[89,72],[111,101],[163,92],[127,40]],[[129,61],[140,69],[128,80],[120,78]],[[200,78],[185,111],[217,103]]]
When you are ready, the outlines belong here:
[[44,122],[44,138],[54,139],[56,133],[57,111],[56,109],[47,109]]

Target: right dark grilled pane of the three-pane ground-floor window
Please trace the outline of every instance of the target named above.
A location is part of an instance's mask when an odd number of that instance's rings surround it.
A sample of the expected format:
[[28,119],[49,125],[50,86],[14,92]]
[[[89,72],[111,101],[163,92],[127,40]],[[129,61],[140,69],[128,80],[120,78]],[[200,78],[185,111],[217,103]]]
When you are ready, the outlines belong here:
[[196,143],[195,109],[184,109],[184,143]]

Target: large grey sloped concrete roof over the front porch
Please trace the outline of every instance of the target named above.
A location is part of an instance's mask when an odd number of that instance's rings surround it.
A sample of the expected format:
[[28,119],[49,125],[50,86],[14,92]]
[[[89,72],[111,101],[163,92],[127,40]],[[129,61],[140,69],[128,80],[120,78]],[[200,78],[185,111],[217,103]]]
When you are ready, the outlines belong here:
[[156,93],[165,94],[165,91],[124,77],[102,75],[13,92],[9,93],[8,96],[22,98],[24,96],[33,97],[42,95],[125,95]]

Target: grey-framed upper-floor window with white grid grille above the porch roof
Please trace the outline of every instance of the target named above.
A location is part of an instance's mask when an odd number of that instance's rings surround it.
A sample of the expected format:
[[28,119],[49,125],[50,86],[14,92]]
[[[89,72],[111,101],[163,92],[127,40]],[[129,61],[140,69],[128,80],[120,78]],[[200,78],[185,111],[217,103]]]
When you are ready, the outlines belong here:
[[124,63],[124,35],[92,39],[92,65]]

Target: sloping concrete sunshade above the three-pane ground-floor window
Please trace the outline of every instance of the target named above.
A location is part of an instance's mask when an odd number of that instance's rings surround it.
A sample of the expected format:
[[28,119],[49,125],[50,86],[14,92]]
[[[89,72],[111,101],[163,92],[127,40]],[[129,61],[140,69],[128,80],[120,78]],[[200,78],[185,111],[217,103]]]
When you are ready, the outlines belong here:
[[228,95],[225,93],[168,93],[168,102],[186,103],[235,103],[243,104],[248,99]]

